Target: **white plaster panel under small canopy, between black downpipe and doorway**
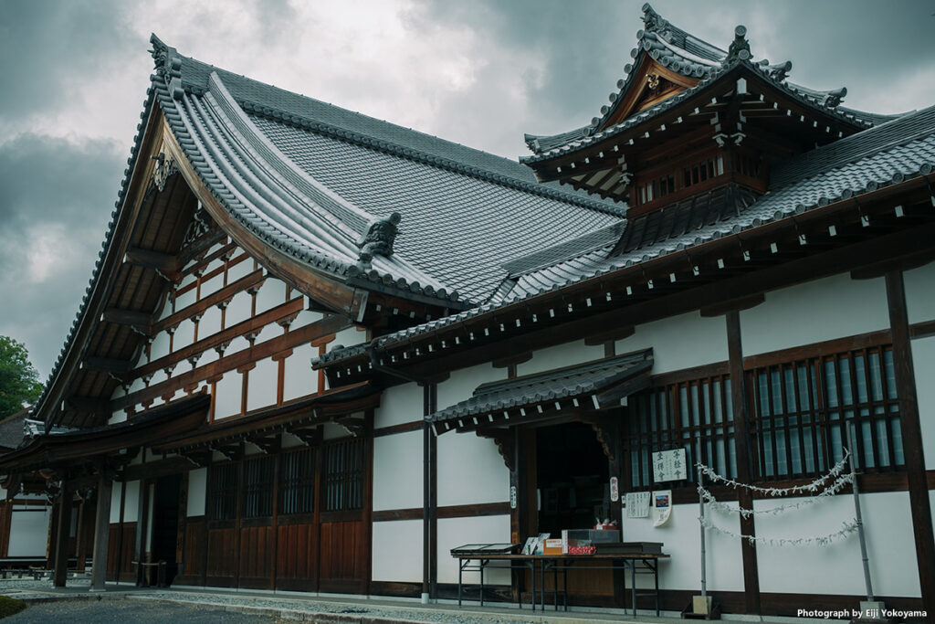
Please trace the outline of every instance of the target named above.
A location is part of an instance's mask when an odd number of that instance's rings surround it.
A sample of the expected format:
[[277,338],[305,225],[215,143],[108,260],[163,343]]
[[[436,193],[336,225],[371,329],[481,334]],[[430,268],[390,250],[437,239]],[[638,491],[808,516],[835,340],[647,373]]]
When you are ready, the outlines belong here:
[[510,471],[493,440],[448,432],[438,443],[439,506],[510,500]]

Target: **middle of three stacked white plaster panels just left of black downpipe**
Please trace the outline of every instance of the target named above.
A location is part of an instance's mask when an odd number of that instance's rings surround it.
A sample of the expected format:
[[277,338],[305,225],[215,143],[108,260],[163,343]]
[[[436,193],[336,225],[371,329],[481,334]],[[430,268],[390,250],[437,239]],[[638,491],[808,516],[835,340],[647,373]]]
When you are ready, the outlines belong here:
[[[373,439],[375,510],[423,506],[422,435],[422,431],[410,431]],[[439,474],[439,485],[443,483]]]

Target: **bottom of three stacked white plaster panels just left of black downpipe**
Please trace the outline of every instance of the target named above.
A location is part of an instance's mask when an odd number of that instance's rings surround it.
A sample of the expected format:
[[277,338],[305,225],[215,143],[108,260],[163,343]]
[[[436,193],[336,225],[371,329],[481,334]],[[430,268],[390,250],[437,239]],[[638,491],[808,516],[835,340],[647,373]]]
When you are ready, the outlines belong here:
[[373,523],[372,573],[375,581],[422,581],[422,520]]

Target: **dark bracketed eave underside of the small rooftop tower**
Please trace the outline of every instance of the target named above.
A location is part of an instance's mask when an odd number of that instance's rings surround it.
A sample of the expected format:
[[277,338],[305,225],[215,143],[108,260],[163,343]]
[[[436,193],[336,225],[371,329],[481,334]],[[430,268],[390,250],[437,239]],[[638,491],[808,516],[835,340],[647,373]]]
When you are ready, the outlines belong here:
[[[746,80],[747,93],[738,96],[739,78]],[[720,134],[726,145],[734,145],[740,138],[745,146],[788,157],[864,129],[803,105],[742,66],[720,77],[718,85],[716,91],[688,97],[662,115],[620,134],[530,163],[530,167],[539,181],[558,180],[589,194],[626,201],[624,164],[626,172],[633,174],[642,167],[665,162],[667,144],[677,153],[703,145],[714,148],[718,146],[714,136]]]

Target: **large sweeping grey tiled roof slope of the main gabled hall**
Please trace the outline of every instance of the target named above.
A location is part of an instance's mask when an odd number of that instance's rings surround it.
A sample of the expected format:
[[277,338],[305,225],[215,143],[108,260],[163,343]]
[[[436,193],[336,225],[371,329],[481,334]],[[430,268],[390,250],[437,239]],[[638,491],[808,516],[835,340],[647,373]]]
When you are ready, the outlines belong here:
[[[237,77],[155,38],[153,45],[165,56],[160,105],[201,180],[257,237],[338,279],[479,301],[514,254],[623,214],[539,185],[507,159]],[[357,240],[394,212],[402,217],[395,253],[361,268]]]

